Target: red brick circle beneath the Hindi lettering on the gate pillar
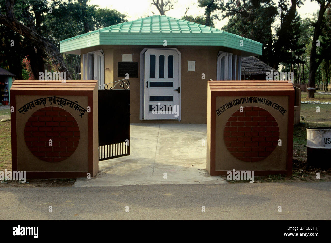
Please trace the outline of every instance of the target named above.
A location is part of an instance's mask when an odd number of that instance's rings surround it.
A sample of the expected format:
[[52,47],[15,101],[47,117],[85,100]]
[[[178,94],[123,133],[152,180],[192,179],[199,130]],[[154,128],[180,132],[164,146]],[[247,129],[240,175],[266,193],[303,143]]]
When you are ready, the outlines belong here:
[[[47,162],[67,159],[76,150],[80,138],[76,119],[66,110],[47,106],[27,120],[24,140],[32,154]],[[49,140],[53,144],[49,145]]]

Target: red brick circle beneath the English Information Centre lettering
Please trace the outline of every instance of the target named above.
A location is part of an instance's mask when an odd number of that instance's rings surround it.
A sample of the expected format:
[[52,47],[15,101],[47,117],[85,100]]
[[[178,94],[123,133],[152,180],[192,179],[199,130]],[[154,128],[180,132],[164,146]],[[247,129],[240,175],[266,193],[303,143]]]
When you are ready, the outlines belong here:
[[237,110],[224,128],[224,142],[236,158],[256,162],[268,157],[276,148],[279,127],[276,119],[265,109],[256,106]]

